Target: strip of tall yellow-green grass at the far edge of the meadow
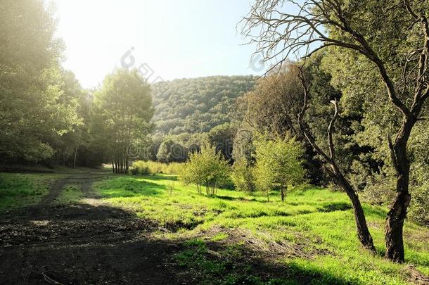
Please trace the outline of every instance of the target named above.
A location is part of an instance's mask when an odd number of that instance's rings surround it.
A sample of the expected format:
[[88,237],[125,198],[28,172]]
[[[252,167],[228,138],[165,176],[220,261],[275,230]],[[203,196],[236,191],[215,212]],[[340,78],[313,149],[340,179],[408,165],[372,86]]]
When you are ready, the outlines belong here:
[[182,163],[159,163],[158,161],[137,160],[132,164],[130,172],[132,175],[179,175],[182,167]]

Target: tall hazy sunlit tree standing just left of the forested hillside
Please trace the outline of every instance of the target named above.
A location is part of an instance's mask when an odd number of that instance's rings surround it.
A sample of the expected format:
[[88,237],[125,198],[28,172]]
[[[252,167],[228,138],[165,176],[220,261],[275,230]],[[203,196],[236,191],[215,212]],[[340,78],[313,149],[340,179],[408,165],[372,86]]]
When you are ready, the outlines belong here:
[[95,103],[98,138],[105,142],[113,172],[127,173],[134,153],[130,150],[143,149],[152,129],[150,85],[136,70],[118,69],[105,77]]

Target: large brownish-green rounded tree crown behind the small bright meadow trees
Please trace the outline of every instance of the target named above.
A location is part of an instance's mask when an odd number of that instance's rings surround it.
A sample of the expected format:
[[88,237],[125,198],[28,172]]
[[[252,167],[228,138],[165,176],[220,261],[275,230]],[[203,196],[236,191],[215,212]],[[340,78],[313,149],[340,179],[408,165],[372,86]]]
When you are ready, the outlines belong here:
[[[336,91],[329,82],[328,74],[321,72],[318,67],[318,61],[308,60],[307,65],[311,65],[310,75],[314,82],[312,89],[312,101],[310,106],[316,103],[313,108],[312,116],[309,116],[311,122],[315,122],[317,130],[323,129],[323,132],[316,134],[326,134],[326,120],[331,117],[331,110],[324,103],[338,97]],[[286,132],[296,137],[297,141],[305,148],[304,167],[307,170],[307,177],[315,185],[326,184],[326,177],[321,171],[321,162],[316,156],[312,146],[301,134],[297,122],[297,115],[302,108],[302,98],[304,91],[301,82],[297,77],[298,68],[296,63],[286,62],[281,67],[276,68],[276,72],[257,81],[255,89],[249,91],[245,96],[239,99],[238,106],[245,114],[245,120],[236,134],[234,141],[234,158],[245,157],[252,163],[252,155],[255,152],[252,146],[253,132],[267,132],[271,136],[283,136]],[[309,77],[310,77],[309,75]],[[308,121],[308,120],[307,120]],[[313,124],[311,124],[312,127]]]

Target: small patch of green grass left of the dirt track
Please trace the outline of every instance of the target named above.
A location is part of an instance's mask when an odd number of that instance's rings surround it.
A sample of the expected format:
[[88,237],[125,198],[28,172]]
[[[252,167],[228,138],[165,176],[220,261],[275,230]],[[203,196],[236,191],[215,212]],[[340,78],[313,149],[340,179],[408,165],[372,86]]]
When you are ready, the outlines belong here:
[[54,176],[0,173],[0,211],[38,203],[48,194]]

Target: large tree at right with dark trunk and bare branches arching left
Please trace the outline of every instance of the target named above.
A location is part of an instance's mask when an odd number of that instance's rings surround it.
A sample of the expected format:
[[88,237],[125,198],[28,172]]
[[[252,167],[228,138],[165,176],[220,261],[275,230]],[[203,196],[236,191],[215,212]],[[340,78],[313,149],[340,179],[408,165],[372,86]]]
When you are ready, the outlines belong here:
[[[286,3],[299,12],[288,13]],[[396,196],[385,227],[386,257],[404,261],[402,232],[411,201],[407,144],[429,96],[428,1],[257,0],[245,20],[245,34],[265,61],[280,56],[282,63],[289,54],[307,57],[335,46],[353,52],[351,65],[369,61],[377,71],[385,101],[399,117],[395,138],[388,139]]]

